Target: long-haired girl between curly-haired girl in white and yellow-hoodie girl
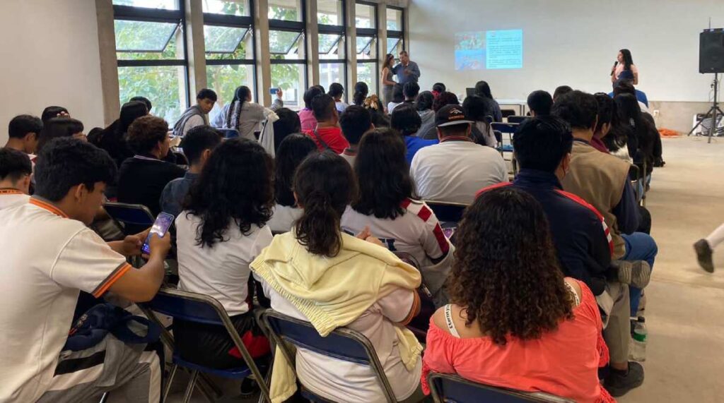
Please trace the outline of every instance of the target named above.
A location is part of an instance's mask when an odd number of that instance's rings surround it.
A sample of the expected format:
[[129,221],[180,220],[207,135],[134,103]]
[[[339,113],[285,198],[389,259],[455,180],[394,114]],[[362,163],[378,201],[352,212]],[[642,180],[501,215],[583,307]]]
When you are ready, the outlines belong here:
[[[361,107],[352,105],[350,108]],[[312,139],[299,133],[287,136],[279,146],[274,163],[274,198],[277,203],[274,204],[271,220],[267,223],[271,233],[286,233],[292,230],[294,222],[302,216],[302,209],[294,197],[292,182],[299,164],[316,151],[316,144]]]

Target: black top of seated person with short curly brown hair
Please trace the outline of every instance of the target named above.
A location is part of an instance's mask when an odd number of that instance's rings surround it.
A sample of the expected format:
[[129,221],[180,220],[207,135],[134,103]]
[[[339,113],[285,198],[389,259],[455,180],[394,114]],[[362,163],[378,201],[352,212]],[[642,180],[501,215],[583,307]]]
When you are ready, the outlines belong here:
[[143,204],[153,215],[161,212],[159,199],[164,187],[175,178],[181,178],[186,171],[170,162],[128,158],[121,164],[118,174],[118,201],[129,204]]

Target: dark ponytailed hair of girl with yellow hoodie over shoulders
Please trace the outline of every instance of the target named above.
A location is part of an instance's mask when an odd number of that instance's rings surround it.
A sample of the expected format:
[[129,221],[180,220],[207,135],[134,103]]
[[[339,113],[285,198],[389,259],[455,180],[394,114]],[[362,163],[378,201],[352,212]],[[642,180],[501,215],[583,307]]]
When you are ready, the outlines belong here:
[[337,256],[342,214],[357,194],[350,164],[334,152],[309,155],[294,176],[294,191],[303,208],[295,223],[297,241],[311,254]]

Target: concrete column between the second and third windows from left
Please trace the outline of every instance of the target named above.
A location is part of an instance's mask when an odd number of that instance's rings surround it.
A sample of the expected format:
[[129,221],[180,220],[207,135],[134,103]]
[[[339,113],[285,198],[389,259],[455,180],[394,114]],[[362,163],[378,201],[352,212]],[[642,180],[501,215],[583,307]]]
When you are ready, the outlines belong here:
[[[256,90],[259,103],[271,105],[271,53],[269,51],[269,0],[254,1],[254,40],[256,41]],[[261,89],[261,91],[260,91]]]

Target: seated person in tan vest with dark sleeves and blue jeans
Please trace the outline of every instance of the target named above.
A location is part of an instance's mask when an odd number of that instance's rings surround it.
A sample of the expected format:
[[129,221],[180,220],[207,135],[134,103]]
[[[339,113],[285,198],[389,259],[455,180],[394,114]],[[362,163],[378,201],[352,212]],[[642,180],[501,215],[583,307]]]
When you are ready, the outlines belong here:
[[[651,235],[636,232],[640,217],[628,178],[631,165],[590,144],[597,111],[596,97],[581,91],[569,92],[553,105],[552,114],[567,121],[573,130],[571,168],[563,178],[563,189],[580,196],[603,215],[613,238],[613,259],[643,260],[653,269],[658,248]],[[636,316],[641,289],[631,286],[629,294],[631,316]]]

